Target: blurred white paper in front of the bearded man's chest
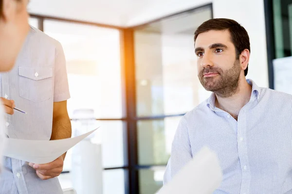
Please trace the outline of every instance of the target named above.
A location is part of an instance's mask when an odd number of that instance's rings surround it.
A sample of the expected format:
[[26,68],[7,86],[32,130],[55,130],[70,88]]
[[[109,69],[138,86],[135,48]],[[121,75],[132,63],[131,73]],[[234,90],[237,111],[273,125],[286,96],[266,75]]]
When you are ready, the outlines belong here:
[[213,194],[221,181],[217,156],[204,147],[157,194]]

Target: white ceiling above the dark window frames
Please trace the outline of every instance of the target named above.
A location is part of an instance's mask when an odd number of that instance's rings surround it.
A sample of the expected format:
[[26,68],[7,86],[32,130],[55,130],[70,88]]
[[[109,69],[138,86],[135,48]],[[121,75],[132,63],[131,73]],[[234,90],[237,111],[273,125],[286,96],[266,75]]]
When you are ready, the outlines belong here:
[[212,0],[30,0],[30,14],[132,27]]

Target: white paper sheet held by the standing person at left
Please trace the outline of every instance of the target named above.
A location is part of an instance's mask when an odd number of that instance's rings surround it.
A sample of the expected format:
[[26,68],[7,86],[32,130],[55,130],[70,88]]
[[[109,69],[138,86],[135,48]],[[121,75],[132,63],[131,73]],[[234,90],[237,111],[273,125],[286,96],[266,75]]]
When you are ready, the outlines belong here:
[[95,130],[77,137],[52,141],[4,138],[3,155],[37,164],[53,162]]

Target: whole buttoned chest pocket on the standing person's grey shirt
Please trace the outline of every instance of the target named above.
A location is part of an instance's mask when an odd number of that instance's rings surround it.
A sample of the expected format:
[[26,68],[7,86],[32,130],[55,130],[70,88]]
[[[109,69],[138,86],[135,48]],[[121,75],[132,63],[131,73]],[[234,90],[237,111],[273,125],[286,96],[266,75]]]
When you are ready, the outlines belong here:
[[19,96],[33,102],[52,97],[53,68],[19,67]]

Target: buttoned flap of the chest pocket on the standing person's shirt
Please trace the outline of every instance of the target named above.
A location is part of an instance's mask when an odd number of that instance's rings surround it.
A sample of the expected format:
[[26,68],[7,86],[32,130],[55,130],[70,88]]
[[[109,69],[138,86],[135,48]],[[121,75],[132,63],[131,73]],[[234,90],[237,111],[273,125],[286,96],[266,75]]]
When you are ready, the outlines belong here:
[[50,67],[18,67],[19,76],[32,80],[43,80],[53,77],[53,68]]

